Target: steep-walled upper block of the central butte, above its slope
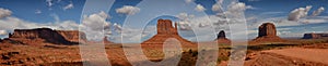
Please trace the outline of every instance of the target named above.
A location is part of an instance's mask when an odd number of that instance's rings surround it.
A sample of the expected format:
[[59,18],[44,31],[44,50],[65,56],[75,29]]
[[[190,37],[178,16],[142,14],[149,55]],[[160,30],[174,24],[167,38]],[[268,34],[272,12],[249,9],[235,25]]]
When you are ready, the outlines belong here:
[[159,19],[157,21],[157,35],[177,35],[177,24],[175,27],[172,26],[171,19]]

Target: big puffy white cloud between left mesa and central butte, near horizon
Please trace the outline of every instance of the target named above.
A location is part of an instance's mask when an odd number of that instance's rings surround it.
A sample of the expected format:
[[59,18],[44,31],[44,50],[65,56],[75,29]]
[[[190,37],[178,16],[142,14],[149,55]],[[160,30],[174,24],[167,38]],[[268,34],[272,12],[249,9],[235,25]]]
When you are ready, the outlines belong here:
[[102,40],[104,34],[112,34],[108,14],[104,11],[91,15],[84,15],[80,29],[85,32],[89,40]]

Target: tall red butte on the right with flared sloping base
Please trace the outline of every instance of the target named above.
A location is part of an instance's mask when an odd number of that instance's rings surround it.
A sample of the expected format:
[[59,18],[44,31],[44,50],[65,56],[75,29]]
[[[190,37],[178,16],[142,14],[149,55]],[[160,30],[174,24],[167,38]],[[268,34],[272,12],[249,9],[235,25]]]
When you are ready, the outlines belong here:
[[258,28],[258,37],[251,42],[282,42],[280,37],[277,36],[276,26],[272,23],[263,23]]

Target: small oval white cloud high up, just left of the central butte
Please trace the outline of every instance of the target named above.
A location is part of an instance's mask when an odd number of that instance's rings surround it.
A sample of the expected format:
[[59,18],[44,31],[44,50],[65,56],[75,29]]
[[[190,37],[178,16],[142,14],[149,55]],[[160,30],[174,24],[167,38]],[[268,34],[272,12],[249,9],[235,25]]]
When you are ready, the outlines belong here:
[[140,12],[140,9],[131,5],[124,5],[122,8],[116,9],[116,13],[121,13],[127,15],[133,15],[138,12]]

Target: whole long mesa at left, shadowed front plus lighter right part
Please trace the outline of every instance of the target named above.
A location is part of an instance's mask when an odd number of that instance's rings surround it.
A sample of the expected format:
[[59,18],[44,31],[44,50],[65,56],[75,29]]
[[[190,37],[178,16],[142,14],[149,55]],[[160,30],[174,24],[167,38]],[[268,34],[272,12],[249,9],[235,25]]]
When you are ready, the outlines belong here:
[[9,34],[8,39],[33,45],[39,45],[40,43],[78,44],[79,38],[85,39],[84,34],[81,37],[79,34],[81,32],[74,30],[52,30],[50,28],[14,29],[13,34]]

